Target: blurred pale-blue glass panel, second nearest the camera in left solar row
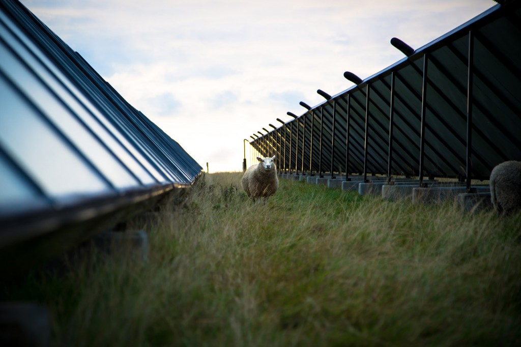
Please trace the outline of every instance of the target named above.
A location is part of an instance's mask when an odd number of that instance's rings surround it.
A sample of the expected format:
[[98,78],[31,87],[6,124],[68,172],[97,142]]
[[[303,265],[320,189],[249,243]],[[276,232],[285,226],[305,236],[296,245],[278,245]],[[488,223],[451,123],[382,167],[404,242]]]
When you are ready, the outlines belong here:
[[109,192],[107,184],[2,75],[0,104],[0,145],[44,192],[49,196]]

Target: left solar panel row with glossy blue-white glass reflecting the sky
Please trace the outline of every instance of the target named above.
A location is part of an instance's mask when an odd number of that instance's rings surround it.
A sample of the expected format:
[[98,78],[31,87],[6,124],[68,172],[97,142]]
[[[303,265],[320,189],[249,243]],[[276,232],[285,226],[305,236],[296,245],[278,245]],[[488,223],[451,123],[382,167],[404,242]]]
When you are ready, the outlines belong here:
[[0,2],[0,113],[0,249],[189,187],[202,170],[16,0]]

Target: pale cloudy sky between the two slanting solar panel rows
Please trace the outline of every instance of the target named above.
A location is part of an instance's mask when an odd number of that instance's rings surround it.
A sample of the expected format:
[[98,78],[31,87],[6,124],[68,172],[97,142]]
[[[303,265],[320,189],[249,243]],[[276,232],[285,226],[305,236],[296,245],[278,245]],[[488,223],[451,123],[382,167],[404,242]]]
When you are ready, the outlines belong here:
[[[21,0],[210,172],[289,121],[496,5],[492,0]],[[257,133],[258,134],[258,133]],[[247,165],[250,146],[246,144]]]

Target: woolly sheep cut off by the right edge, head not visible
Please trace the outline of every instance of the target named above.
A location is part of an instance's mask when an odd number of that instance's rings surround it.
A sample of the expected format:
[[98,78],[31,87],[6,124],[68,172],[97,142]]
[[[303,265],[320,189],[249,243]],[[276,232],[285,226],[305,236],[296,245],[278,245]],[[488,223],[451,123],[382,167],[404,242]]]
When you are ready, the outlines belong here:
[[498,215],[510,215],[521,208],[521,162],[510,160],[494,167],[490,193]]

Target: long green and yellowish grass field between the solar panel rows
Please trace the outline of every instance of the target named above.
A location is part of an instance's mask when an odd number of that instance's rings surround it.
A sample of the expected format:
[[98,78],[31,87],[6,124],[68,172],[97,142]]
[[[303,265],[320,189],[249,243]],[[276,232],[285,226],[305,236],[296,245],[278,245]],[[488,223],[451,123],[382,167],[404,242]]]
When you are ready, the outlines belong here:
[[521,344],[521,213],[391,203],[242,173],[206,175],[144,228],[148,262],[84,257],[0,288],[71,346]]

